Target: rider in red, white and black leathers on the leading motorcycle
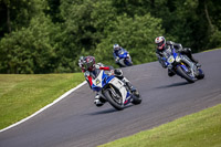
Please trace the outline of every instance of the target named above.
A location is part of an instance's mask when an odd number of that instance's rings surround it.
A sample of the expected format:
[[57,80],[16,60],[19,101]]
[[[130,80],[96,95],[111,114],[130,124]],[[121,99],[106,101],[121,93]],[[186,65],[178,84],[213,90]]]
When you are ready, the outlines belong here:
[[[123,81],[126,86],[131,91],[131,92],[137,92],[136,88],[133,87],[130,82],[123,76],[123,72],[119,69],[114,69],[113,66],[105,66],[102,63],[95,63],[95,57],[94,56],[81,56],[78,60],[78,65],[82,69],[82,72],[84,73],[85,80],[88,83],[90,87],[92,88],[92,80],[96,77],[96,74],[98,73],[97,70],[104,70],[110,72],[110,74],[114,74],[117,78]],[[103,98],[101,95],[96,94],[94,104],[96,106],[102,106],[106,102],[105,98]]]

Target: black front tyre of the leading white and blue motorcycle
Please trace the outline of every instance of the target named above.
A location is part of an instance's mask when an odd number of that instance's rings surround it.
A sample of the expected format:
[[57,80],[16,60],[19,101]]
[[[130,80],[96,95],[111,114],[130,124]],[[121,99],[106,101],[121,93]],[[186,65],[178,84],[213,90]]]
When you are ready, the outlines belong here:
[[114,94],[110,92],[110,90],[106,90],[104,92],[104,95],[106,99],[109,102],[109,104],[116,108],[117,111],[124,109],[123,98],[114,96]]

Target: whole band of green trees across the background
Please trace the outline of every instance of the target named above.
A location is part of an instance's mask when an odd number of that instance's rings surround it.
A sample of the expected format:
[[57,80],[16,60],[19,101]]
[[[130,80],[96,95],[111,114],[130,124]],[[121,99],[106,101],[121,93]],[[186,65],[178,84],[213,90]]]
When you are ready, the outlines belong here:
[[115,65],[115,43],[152,62],[158,35],[219,48],[220,10],[220,0],[0,0],[0,73],[76,72],[81,55]]

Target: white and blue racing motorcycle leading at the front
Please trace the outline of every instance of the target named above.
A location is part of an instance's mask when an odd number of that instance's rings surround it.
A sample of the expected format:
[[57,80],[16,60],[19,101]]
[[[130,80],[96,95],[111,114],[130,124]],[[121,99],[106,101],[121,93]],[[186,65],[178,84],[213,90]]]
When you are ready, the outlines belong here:
[[112,72],[98,70],[92,80],[92,90],[96,91],[117,111],[124,109],[129,103],[138,105],[141,97],[138,93],[129,91],[126,84],[118,80]]

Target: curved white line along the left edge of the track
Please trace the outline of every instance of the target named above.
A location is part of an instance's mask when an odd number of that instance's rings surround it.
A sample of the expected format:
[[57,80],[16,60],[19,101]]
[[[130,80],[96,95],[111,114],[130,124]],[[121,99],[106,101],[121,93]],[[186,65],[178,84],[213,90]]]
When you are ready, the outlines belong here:
[[64,93],[62,96],[60,96],[59,98],[56,98],[55,101],[53,101],[51,104],[49,104],[49,105],[42,107],[41,109],[39,109],[39,111],[35,112],[34,114],[28,116],[28,117],[24,118],[24,119],[21,119],[20,122],[15,123],[15,124],[12,124],[12,125],[10,125],[10,126],[8,126],[8,127],[1,129],[0,133],[7,130],[7,129],[9,129],[9,128],[12,128],[12,127],[14,127],[14,126],[18,126],[19,124],[21,124],[21,123],[23,123],[23,122],[25,122],[25,120],[28,120],[28,119],[34,117],[35,115],[40,114],[41,112],[43,112],[43,111],[45,111],[46,108],[51,107],[52,105],[56,104],[57,102],[60,102],[61,99],[63,99],[64,97],[66,97],[67,95],[70,95],[72,92],[74,92],[74,91],[76,91],[77,88],[80,88],[81,86],[83,86],[84,84],[86,84],[86,81],[84,81],[83,83],[81,83],[81,84],[77,85],[76,87],[70,90],[69,92]]

